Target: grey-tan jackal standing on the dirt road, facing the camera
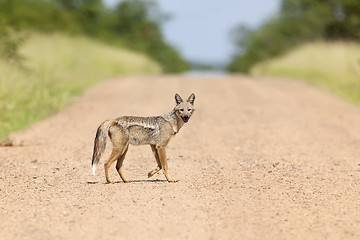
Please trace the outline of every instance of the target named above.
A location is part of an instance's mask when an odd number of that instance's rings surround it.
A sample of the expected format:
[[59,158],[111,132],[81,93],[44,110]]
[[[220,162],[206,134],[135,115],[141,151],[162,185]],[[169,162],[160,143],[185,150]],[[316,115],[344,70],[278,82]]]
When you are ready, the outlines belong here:
[[94,141],[94,152],[92,157],[93,175],[95,175],[96,164],[106,147],[106,138],[110,137],[113,144],[112,153],[105,162],[105,177],[110,183],[109,168],[117,161],[116,170],[124,182],[129,182],[121,171],[129,144],[149,144],[157,162],[157,167],[148,173],[152,177],[161,169],[168,182],[175,182],[168,173],[165,147],[170,139],[179,132],[184,123],[188,122],[194,113],[195,94],[191,94],[186,102],[179,94],[175,94],[175,108],[162,116],[155,117],[133,117],[124,116],[107,120],[100,124]]

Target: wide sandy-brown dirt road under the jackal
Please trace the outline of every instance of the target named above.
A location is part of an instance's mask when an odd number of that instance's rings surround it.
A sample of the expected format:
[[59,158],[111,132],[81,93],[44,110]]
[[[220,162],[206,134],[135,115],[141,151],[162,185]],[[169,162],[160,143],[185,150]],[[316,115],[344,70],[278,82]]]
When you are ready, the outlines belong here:
[[[130,146],[123,183],[91,172],[96,128],[196,112],[167,148]],[[0,239],[360,239],[360,109],[304,83],[133,76],[103,82],[0,148]]]

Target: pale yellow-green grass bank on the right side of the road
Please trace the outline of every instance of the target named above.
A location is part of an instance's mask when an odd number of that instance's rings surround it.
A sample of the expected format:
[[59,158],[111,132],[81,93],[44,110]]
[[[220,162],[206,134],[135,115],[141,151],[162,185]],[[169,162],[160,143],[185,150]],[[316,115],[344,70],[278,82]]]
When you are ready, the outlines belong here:
[[255,65],[251,73],[303,79],[360,104],[359,43],[309,43]]

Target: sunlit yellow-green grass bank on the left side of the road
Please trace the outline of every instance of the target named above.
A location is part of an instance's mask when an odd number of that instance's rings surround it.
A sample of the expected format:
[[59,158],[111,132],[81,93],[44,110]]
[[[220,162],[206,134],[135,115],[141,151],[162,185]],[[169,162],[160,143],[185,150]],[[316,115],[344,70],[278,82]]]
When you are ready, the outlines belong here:
[[0,139],[61,109],[107,77],[161,72],[140,54],[62,34],[32,35],[21,54],[24,69],[0,59]]

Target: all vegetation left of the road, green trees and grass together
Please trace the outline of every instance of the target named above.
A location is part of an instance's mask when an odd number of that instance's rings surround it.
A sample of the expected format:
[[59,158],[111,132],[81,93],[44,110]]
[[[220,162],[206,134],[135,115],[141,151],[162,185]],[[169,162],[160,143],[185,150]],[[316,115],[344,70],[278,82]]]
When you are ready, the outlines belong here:
[[147,0],[0,0],[0,140],[104,78],[185,71],[167,18]]

